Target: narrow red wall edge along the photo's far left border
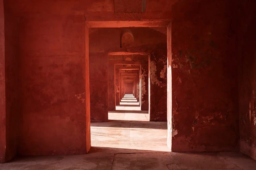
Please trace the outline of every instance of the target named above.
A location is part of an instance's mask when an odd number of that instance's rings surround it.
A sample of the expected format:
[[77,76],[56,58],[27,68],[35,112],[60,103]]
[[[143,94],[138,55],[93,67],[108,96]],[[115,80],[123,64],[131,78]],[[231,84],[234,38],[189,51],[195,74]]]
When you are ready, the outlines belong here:
[[5,162],[4,8],[0,0],[0,163]]

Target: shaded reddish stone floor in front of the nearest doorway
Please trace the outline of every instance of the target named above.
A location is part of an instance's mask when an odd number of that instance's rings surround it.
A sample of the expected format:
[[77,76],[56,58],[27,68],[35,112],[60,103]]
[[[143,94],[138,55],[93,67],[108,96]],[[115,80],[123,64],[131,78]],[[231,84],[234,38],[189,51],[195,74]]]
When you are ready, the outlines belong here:
[[[87,155],[36,156],[1,164],[1,169],[234,169],[254,170],[255,160],[237,152],[168,153],[93,147]],[[104,156],[106,155],[106,156]]]

